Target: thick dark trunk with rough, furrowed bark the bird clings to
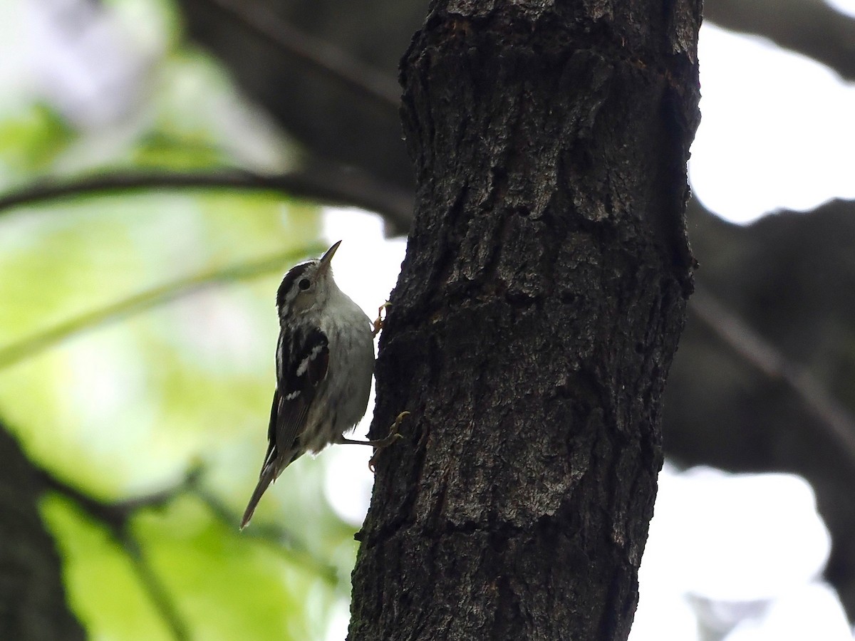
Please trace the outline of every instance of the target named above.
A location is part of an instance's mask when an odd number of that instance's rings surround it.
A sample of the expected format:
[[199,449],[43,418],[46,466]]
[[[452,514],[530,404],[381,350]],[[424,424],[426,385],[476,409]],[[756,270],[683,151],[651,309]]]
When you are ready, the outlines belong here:
[[692,289],[698,0],[432,4],[353,639],[626,638]]

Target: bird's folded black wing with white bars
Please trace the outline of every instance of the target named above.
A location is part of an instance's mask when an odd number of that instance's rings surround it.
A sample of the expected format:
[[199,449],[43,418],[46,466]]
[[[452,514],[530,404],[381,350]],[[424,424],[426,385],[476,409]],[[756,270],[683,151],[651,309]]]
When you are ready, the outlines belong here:
[[[297,358],[291,360],[289,354]],[[276,356],[276,391],[270,408],[268,451],[262,473],[275,462],[278,474],[292,457],[302,454],[296,447],[296,440],[305,427],[315,391],[327,376],[327,335],[317,327],[302,334],[280,332]],[[280,460],[277,462],[277,459]]]

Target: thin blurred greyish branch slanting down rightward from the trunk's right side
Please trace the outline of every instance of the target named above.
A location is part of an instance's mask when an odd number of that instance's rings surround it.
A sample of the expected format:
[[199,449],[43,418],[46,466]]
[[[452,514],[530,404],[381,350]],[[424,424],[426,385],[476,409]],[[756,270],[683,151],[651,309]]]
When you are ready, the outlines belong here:
[[780,380],[787,385],[817,415],[819,424],[855,462],[855,420],[825,391],[816,377],[806,368],[788,361],[746,321],[728,311],[716,297],[697,284],[689,300],[689,309],[746,362],[769,379]]

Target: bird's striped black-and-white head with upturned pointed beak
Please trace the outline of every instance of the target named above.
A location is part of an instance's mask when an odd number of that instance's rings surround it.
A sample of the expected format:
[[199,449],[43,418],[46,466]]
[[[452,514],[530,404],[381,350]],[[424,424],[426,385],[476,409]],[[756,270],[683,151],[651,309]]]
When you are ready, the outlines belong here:
[[276,292],[276,307],[280,319],[292,315],[308,314],[323,309],[329,298],[339,291],[333,280],[333,260],[338,243],[333,244],[320,258],[301,262],[288,270],[279,291]]

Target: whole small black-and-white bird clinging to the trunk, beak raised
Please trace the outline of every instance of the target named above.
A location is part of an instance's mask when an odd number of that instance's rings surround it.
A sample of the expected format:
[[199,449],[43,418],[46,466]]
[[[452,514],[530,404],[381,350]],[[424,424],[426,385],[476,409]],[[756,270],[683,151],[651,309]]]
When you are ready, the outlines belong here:
[[[333,443],[381,448],[398,438],[406,413],[381,440],[344,436],[368,407],[380,319],[372,329],[365,312],[335,284],[330,262],[339,244],[340,240],[320,259],[292,267],[276,292],[280,333],[268,450],[241,529],[250,522],[268,485],[305,452],[317,453]],[[374,458],[369,465],[373,462]]]

